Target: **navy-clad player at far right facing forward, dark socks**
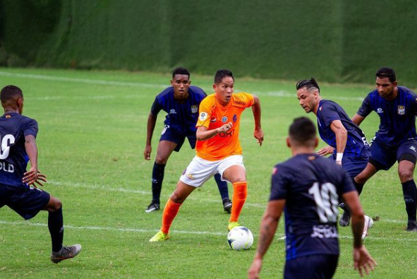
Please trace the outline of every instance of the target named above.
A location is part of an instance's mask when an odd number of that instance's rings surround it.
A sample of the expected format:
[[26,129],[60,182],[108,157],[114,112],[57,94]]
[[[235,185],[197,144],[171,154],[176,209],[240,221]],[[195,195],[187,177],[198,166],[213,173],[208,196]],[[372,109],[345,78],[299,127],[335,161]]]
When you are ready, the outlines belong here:
[[365,97],[352,119],[360,125],[372,111],[380,117],[380,129],[370,145],[372,156],[355,181],[363,185],[373,174],[389,170],[398,161],[398,175],[409,217],[406,230],[417,232],[417,189],[413,179],[417,157],[417,95],[409,88],[397,86],[393,69],[381,68],[375,78],[376,89]]

